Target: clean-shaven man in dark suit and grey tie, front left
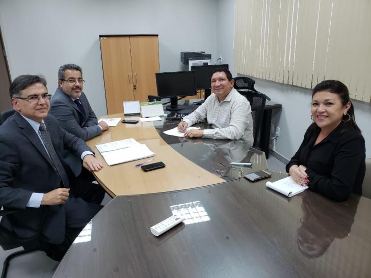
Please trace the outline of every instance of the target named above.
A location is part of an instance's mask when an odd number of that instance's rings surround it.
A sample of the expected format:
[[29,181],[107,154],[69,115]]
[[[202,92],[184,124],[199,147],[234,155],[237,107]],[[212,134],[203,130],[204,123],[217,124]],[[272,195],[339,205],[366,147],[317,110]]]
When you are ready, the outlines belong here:
[[0,126],[0,206],[19,211],[3,216],[1,225],[24,238],[41,229],[47,255],[61,260],[102,208],[79,198],[82,188],[72,186],[76,178],[62,151],[81,157],[89,171],[102,166],[83,140],[48,115],[50,95],[43,77],[18,76],[9,92],[16,112]]

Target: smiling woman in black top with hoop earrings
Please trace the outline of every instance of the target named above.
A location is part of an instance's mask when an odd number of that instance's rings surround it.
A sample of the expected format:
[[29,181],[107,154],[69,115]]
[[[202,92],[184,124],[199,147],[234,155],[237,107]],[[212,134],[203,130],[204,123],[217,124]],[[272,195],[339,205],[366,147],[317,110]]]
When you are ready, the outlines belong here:
[[347,86],[322,81],[313,89],[311,107],[313,123],[286,171],[298,184],[336,201],[352,192],[361,195],[365,144]]

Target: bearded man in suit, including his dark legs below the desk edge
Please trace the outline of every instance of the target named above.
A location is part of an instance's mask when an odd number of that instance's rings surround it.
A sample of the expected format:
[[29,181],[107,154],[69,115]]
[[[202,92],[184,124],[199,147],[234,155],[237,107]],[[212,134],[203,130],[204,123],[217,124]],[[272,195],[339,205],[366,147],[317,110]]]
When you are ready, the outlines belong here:
[[[50,114],[57,118],[62,128],[84,141],[108,129],[108,124],[104,121],[98,123],[83,92],[84,80],[81,67],[75,64],[61,66],[58,70],[58,84],[59,87],[50,100]],[[94,184],[91,182],[95,178],[82,167],[80,157],[67,151],[64,151],[63,157],[68,161],[77,180],[81,181],[77,186],[83,191],[81,197],[86,202],[100,204],[104,198],[104,190],[100,186],[92,186]]]

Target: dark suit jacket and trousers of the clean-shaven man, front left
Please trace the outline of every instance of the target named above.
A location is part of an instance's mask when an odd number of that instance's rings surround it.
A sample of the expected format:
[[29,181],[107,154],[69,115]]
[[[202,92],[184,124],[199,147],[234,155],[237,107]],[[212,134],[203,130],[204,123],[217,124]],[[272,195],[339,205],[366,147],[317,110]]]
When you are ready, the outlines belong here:
[[[68,149],[79,156],[91,149],[62,129],[53,116],[45,118],[44,123],[66,173],[71,173],[62,151]],[[83,228],[94,215],[90,204],[80,198],[69,198],[64,206],[26,207],[33,192],[49,192],[59,188],[61,182],[35,130],[17,112],[0,126],[0,150],[0,206],[20,209],[3,216],[1,225],[5,228],[19,237],[34,236],[45,214],[44,240],[61,243],[66,226]]]

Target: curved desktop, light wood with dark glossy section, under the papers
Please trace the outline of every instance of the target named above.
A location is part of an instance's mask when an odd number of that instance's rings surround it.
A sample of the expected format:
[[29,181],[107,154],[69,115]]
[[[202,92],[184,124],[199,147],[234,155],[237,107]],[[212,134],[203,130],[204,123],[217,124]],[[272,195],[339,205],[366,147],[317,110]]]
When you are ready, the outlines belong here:
[[[122,115],[109,117],[117,118]],[[137,124],[119,123],[89,140],[88,145],[103,164],[103,169],[94,173],[98,182],[114,197],[196,188],[267,169],[263,153],[245,142],[176,137],[163,133],[177,124],[177,121],[166,122],[164,119]],[[201,123],[198,126],[205,128],[207,125]],[[95,145],[125,138],[134,138],[147,145],[155,153],[153,162],[162,161],[166,167],[150,172],[143,172],[140,167],[135,167],[135,164],[147,159],[108,166]],[[253,167],[230,167],[229,162],[251,162]]]

